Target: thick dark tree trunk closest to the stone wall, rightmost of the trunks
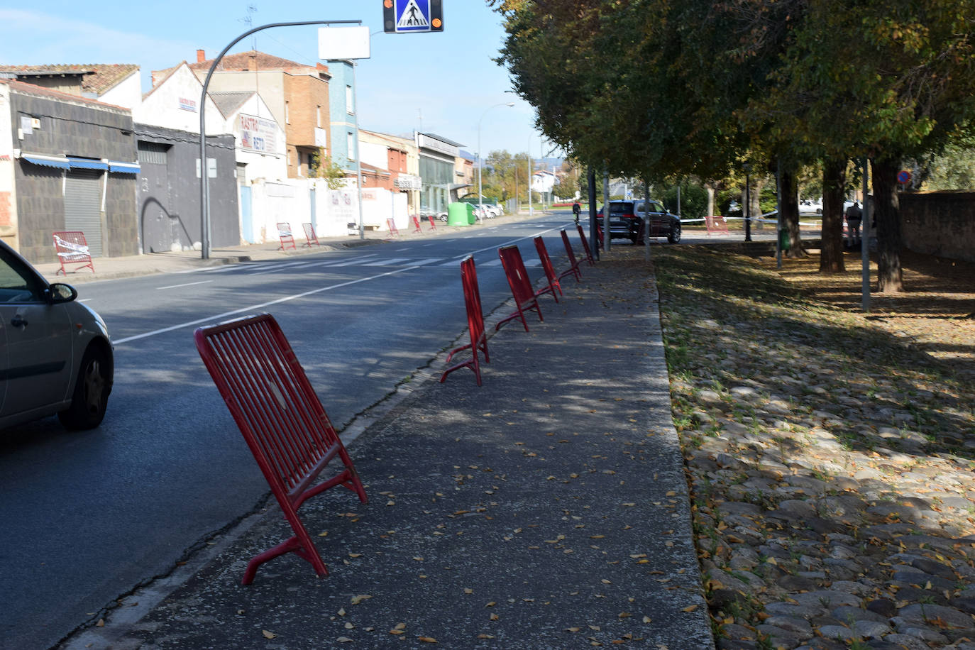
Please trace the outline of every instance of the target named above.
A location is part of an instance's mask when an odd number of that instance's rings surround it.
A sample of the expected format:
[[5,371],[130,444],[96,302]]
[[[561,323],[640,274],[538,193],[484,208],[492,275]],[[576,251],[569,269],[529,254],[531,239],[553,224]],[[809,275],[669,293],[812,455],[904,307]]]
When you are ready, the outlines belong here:
[[[901,270],[901,207],[897,197],[897,172],[901,161],[896,156],[883,156],[871,161],[874,172],[874,201],[870,215],[877,228],[877,277],[880,293],[904,290]],[[865,243],[867,244],[867,243]]]

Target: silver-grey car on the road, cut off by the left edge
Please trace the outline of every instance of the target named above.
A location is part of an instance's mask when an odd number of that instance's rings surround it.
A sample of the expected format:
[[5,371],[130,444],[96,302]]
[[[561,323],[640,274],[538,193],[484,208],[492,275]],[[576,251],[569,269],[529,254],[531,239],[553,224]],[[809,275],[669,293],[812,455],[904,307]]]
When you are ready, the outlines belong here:
[[111,339],[77,297],[0,242],[0,428],[56,413],[68,429],[101,423],[114,377]]

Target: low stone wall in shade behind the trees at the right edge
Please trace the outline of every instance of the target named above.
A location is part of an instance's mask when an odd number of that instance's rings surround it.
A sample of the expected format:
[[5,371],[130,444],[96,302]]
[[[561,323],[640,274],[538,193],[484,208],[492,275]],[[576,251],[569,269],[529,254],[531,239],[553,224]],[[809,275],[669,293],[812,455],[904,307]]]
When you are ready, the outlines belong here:
[[903,193],[904,247],[975,262],[975,192]]

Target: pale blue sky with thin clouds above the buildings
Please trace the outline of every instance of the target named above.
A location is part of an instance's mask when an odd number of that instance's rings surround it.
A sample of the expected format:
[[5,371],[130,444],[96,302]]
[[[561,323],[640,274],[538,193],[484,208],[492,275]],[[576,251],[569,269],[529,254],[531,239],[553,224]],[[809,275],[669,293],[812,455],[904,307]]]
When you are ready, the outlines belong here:
[[[34,8],[36,7],[36,9]],[[197,49],[214,57],[250,27],[297,20],[357,20],[382,31],[382,0],[292,2],[98,3],[46,0],[0,8],[0,62],[137,63],[142,92],[149,71],[196,60]],[[318,27],[280,27],[254,35],[256,47],[278,57],[313,64]],[[494,63],[504,39],[500,17],[484,0],[444,0],[444,32],[372,36],[372,57],[357,71],[359,123],[364,129],[409,134],[413,129],[482,149],[526,151],[539,157],[542,144],[534,111],[512,93],[507,72]],[[250,50],[252,38],[231,52]],[[513,101],[511,108],[495,104]],[[545,144],[545,153],[550,149]]]

